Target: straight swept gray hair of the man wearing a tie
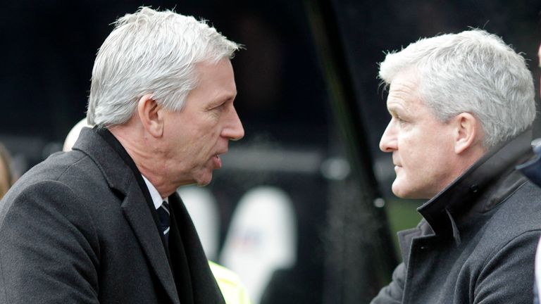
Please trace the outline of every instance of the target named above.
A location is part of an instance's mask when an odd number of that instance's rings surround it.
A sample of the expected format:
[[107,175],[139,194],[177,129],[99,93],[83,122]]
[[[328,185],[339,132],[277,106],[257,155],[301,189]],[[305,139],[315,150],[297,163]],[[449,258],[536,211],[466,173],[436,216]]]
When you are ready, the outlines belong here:
[[197,86],[197,63],[232,58],[239,44],[192,16],[148,7],[116,20],[94,61],[89,125],[127,122],[145,94],[168,110],[182,110]]

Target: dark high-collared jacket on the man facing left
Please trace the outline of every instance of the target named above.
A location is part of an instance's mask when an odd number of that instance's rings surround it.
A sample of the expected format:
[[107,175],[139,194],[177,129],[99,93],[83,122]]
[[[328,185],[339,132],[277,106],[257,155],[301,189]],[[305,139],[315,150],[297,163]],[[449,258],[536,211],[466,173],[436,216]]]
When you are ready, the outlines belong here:
[[532,303],[541,191],[515,167],[532,156],[527,131],[485,154],[399,232],[403,262],[379,303]]

